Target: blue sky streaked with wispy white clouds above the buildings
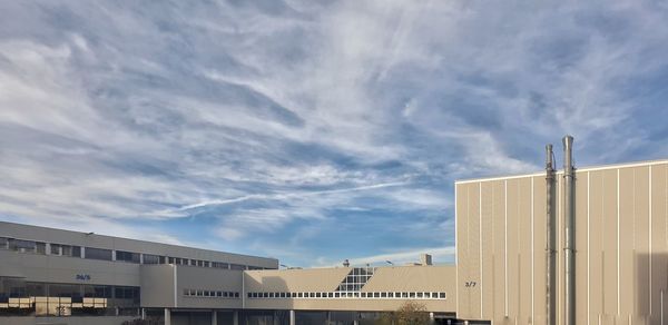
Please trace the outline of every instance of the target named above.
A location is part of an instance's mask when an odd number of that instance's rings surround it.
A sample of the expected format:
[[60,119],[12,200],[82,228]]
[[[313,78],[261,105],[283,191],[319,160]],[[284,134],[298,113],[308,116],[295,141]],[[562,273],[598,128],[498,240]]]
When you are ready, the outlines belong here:
[[668,158],[667,3],[0,1],[0,220],[452,263],[456,179]]

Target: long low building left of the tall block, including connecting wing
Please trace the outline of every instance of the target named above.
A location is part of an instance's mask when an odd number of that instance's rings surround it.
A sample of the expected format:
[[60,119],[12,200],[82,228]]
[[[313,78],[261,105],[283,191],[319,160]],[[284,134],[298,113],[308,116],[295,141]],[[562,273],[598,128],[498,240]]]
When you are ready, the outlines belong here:
[[[0,324],[373,324],[406,301],[454,318],[455,268],[278,260],[0,221]],[[431,264],[431,263],[429,263]]]

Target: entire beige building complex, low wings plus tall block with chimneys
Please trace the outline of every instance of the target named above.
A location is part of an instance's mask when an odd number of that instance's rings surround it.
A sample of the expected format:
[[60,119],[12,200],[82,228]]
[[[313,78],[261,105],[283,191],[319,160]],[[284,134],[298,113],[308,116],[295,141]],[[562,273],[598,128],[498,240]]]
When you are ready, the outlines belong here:
[[0,324],[666,324],[668,160],[455,183],[455,265],[278,260],[0,223]]

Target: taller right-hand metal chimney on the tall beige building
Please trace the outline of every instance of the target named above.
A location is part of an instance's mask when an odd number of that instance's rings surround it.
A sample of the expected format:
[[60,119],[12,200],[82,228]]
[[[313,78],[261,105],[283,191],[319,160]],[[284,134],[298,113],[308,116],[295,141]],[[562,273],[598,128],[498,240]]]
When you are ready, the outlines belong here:
[[576,209],[573,137],[563,137],[563,217],[566,219],[566,243],[563,248],[566,280],[563,295],[564,325],[576,325]]

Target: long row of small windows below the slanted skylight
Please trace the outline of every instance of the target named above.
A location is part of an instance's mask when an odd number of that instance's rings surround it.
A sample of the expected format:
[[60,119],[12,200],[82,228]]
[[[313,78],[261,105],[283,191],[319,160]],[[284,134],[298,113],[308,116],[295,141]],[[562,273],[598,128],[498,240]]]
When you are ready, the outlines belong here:
[[393,298],[445,299],[445,293],[248,293],[248,298]]

